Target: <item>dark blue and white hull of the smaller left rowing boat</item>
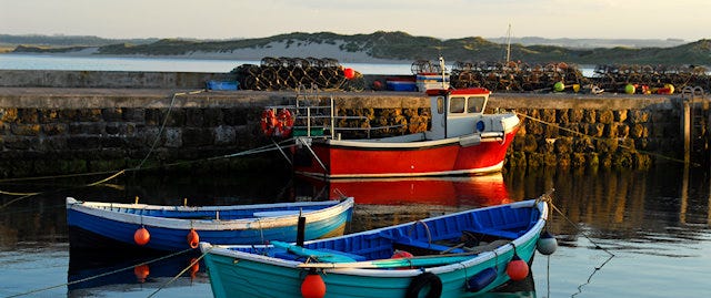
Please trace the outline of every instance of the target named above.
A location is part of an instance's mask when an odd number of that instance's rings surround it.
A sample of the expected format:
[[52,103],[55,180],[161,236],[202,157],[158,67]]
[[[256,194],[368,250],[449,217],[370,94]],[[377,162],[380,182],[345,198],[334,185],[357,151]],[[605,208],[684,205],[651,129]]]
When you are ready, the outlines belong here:
[[[351,218],[352,206],[353,199],[349,198],[328,208],[304,213],[303,216],[307,218],[304,238],[317,239],[342,235],[346,224]],[[264,213],[268,214],[262,212]],[[67,204],[67,223],[70,228],[77,227],[84,233],[89,232],[119,243],[138,246],[134,244],[133,234],[137,229],[144,227],[150,234],[150,240],[142,247],[169,251],[189,249],[188,234],[191,229],[198,233],[200,240],[218,244],[296,242],[298,217],[298,213],[292,213],[243,219],[187,219],[160,217],[158,214],[143,216],[110,208],[93,208],[84,205],[84,202],[69,203],[69,199]]]

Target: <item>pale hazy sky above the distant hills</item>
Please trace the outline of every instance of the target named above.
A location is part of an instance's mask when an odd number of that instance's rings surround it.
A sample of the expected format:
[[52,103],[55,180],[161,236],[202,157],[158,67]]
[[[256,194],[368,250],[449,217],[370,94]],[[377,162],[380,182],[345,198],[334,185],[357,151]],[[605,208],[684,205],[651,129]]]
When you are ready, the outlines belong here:
[[264,38],[291,32],[418,37],[711,38],[709,0],[0,0],[0,34]]

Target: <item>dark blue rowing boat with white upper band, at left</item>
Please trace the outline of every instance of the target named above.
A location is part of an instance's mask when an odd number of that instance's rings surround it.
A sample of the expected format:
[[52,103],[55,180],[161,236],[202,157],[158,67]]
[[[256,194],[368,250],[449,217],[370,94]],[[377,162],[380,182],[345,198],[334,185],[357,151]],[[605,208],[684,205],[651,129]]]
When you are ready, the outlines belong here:
[[[353,198],[234,206],[159,206],[81,202],[67,198],[67,224],[131,247],[180,251],[214,244],[296,242],[299,217],[306,218],[303,239],[343,235]],[[70,242],[70,245],[74,243]]]

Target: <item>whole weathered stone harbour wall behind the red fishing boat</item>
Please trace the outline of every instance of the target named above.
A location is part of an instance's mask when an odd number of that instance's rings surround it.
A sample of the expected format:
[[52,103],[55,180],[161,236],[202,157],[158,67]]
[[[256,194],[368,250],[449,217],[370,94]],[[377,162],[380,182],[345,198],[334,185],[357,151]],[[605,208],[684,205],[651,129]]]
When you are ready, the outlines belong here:
[[[0,177],[133,168],[149,152],[144,168],[288,168],[278,152],[206,160],[272,144],[260,130],[263,107],[292,103],[294,92],[187,91],[197,89],[0,88]],[[395,126],[371,136],[421,132],[430,120],[429,101],[418,92],[322,95],[333,96],[339,115],[365,119],[339,125]],[[487,112],[512,110],[523,121],[505,167],[647,168],[682,158],[680,102],[675,95],[497,93]]]

